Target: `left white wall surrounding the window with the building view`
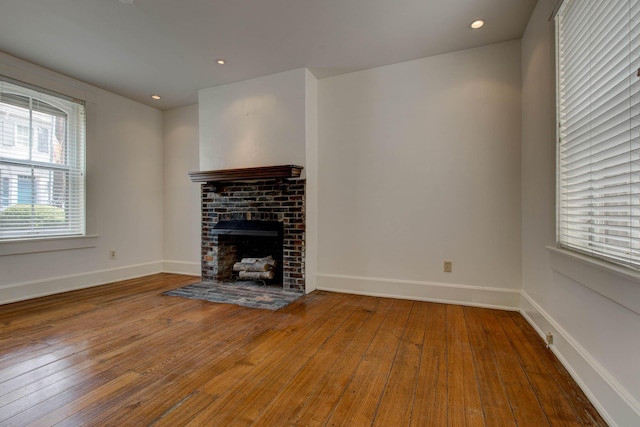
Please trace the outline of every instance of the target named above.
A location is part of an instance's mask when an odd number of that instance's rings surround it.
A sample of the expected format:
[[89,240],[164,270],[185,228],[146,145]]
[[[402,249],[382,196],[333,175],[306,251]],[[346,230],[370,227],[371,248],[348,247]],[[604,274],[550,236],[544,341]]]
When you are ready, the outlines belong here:
[[0,74],[87,100],[87,221],[98,236],[93,247],[0,256],[0,303],[161,271],[162,113],[1,53]]

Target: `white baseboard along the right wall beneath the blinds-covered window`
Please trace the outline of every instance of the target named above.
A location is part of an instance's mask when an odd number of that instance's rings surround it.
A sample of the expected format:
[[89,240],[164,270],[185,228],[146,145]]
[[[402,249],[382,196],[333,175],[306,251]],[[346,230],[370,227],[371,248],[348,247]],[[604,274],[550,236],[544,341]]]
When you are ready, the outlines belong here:
[[[526,292],[520,313],[544,339],[553,333],[550,349],[611,426],[640,425],[640,402],[620,384],[579,342]],[[607,409],[605,409],[607,408]]]

